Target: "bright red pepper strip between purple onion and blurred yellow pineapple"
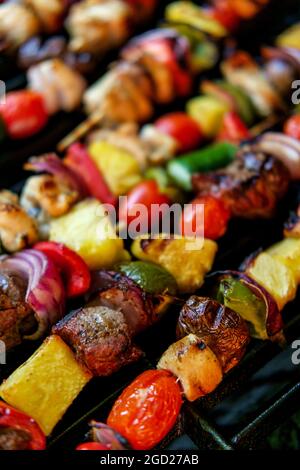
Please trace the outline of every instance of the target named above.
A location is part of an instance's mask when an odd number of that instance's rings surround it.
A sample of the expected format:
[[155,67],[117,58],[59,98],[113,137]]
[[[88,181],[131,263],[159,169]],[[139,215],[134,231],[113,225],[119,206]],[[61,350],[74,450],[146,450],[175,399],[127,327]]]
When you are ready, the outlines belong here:
[[83,144],[79,142],[72,144],[64,161],[84,180],[91,196],[103,204],[116,205],[116,197],[110,191],[99,168],[97,168]]

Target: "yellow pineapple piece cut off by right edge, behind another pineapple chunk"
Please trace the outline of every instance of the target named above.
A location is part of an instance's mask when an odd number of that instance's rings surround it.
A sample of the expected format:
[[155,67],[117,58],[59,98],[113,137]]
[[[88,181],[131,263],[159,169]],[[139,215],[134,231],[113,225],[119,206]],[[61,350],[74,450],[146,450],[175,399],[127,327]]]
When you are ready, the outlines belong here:
[[300,239],[286,238],[271,246],[267,253],[288,266],[293,271],[297,284],[300,284]]

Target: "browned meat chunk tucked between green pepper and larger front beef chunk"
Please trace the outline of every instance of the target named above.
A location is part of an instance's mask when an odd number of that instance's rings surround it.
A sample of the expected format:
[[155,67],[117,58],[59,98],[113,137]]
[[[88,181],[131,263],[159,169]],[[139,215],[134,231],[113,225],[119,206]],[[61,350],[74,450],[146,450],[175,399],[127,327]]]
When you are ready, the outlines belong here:
[[120,310],[130,328],[137,335],[158,320],[152,296],[144,292],[135,282],[113,271],[98,271],[94,274],[99,296],[92,305],[103,305]]

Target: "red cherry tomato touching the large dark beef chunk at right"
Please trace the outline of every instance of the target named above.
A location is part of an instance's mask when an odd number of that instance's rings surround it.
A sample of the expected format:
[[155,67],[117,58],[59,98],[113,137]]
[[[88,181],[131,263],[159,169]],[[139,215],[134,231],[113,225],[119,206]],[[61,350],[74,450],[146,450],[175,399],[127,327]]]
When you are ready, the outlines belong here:
[[[197,221],[203,220],[203,225],[196,226]],[[210,240],[222,237],[230,219],[230,211],[224,203],[214,196],[202,196],[185,207],[181,218],[181,230],[185,236],[204,235]]]

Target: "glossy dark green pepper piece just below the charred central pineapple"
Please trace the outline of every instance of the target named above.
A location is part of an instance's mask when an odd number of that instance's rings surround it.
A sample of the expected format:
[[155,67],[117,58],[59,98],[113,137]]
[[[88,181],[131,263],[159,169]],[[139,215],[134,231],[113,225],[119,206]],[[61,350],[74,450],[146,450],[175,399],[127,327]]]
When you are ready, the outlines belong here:
[[125,274],[149,294],[176,295],[177,283],[166,269],[146,261],[131,261],[117,265]]

